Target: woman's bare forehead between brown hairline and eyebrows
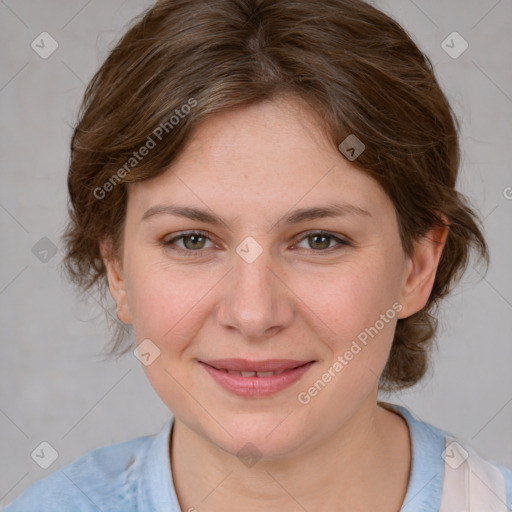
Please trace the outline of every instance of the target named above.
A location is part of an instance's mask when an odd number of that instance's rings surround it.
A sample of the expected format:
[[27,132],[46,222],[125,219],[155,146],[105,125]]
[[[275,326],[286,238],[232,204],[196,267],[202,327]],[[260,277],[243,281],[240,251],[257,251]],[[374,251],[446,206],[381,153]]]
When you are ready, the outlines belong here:
[[332,147],[317,117],[293,99],[211,116],[167,171],[129,190],[138,214],[177,200],[267,218],[294,206],[350,200],[375,209],[385,201],[380,185]]

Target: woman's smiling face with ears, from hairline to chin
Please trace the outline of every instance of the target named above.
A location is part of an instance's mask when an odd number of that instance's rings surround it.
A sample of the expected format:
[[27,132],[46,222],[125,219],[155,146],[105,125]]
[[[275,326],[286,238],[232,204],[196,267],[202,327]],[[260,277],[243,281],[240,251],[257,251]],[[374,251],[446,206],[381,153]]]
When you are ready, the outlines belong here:
[[[397,319],[426,303],[437,263],[434,249],[405,257],[383,189],[294,106],[204,122],[169,170],[129,186],[123,265],[108,264],[156,392],[233,454],[298,453],[375,408]],[[252,367],[286,371],[223,371]]]

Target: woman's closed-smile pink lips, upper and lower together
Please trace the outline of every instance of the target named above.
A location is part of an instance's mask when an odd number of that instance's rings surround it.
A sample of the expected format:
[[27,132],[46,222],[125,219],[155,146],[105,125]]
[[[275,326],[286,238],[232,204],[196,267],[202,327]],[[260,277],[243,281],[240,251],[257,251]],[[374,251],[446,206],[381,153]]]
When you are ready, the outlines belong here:
[[[226,391],[245,398],[257,398],[273,395],[291,386],[313,366],[315,361],[216,359],[213,361],[199,361],[199,363],[213,380]],[[282,371],[282,373],[269,377],[242,377],[241,375],[227,373],[228,370],[240,372]]]

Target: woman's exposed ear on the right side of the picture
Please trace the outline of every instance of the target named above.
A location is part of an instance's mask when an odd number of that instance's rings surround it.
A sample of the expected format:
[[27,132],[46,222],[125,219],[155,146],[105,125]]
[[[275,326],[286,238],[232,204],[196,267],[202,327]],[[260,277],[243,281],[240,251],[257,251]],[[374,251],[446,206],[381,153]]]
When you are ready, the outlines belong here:
[[400,296],[403,308],[398,318],[407,318],[427,304],[434,286],[437,267],[449,231],[449,222],[441,215],[444,226],[432,228],[414,243],[414,253],[407,258],[404,284]]

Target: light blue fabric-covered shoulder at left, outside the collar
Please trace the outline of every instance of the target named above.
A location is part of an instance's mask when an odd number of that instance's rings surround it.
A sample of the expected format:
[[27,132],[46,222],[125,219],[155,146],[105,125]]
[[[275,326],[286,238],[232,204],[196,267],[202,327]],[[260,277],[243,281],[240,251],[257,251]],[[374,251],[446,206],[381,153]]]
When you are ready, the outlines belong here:
[[4,512],[135,511],[137,473],[154,437],[97,448],[32,484]]

